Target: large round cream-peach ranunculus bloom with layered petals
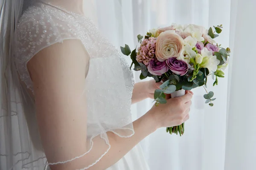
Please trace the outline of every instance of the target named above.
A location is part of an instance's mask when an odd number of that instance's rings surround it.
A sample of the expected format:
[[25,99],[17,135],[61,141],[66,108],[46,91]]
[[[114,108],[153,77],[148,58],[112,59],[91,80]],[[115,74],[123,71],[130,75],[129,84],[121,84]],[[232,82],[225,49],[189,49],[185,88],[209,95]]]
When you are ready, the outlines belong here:
[[165,61],[171,57],[180,56],[183,52],[184,40],[175,31],[164,31],[157,37],[156,57]]

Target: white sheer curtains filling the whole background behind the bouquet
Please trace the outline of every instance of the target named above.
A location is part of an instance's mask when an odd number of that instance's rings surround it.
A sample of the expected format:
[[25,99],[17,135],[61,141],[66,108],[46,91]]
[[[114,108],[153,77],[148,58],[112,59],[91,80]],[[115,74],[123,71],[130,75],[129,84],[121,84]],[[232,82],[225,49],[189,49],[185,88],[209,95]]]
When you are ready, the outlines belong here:
[[[223,24],[223,31],[216,41],[223,47],[230,47],[233,53],[229,76],[226,70],[225,79],[219,79],[219,85],[215,87],[212,87],[213,81],[208,82],[208,90],[214,91],[217,97],[214,107],[204,104],[203,88],[195,89],[185,135],[171,136],[163,128],[143,140],[141,146],[152,170],[256,169],[252,160],[256,156],[256,124],[253,123],[256,121],[253,105],[256,101],[256,92],[253,91],[256,63],[253,50],[256,44],[251,32],[256,27],[253,21],[256,2],[96,0],[96,8],[99,28],[117,48],[125,43],[135,48],[137,34],[171,23],[194,23],[207,28]],[[240,56],[247,59],[246,63]],[[127,60],[131,62],[129,58]],[[141,81],[137,72],[135,80]],[[150,99],[132,105],[134,119],[146,113],[151,105]]]

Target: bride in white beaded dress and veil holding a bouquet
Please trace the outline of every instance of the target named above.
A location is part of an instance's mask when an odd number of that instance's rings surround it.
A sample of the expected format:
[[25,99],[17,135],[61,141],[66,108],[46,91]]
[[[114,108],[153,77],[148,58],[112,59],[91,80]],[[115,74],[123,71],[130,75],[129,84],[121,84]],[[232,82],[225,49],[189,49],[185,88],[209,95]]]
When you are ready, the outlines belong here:
[[1,1],[1,170],[148,170],[137,144],[189,119],[187,91],[131,121],[159,83],[134,85],[82,1]]

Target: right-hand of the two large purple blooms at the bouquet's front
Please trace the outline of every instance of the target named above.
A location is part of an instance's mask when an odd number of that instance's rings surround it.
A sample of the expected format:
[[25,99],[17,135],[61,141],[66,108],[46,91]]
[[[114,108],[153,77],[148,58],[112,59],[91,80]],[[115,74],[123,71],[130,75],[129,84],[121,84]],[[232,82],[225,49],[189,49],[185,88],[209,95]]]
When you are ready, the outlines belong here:
[[184,76],[189,70],[188,64],[183,60],[176,59],[176,57],[166,60],[166,64],[173,73],[179,74],[180,76]]

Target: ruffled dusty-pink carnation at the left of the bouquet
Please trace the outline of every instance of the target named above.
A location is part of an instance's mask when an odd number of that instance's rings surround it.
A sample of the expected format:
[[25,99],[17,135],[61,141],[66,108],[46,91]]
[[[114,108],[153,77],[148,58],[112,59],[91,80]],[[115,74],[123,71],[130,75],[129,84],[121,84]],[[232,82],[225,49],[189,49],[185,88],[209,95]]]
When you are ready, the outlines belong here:
[[137,62],[143,62],[145,65],[148,65],[151,59],[154,59],[155,50],[156,50],[157,38],[149,37],[144,39],[138,49],[136,60]]

